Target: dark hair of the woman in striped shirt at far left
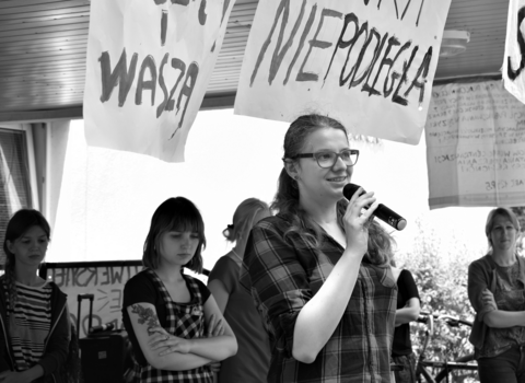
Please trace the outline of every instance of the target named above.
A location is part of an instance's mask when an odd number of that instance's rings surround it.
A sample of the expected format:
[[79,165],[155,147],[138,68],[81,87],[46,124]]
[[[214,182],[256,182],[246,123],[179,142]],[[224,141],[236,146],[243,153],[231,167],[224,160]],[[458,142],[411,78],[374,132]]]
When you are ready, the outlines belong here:
[[46,233],[47,240],[50,240],[51,228],[46,218],[38,210],[34,209],[21,209],[16,211],[9,220],[8,228],[5,229],[5,237],[3,240],[3,252],[5,253],[5,287],[9,291],[9,305],[14,307],[16,303],[16,275],[15,256],[8,248],[8,241],[13,243],[21,236],[23,236],[27,230],[33,227],[39,227],[44,233]]

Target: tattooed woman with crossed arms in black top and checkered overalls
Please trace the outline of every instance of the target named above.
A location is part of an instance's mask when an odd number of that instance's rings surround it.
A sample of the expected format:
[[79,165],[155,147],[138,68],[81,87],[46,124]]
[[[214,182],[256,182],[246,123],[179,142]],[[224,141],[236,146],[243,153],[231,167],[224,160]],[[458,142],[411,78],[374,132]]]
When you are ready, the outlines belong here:
[[190,200],[170,198],[159,206],[144,242],[144,269],[124,288],[122,322],[133,345],[136,382],[210,383],[210,363],[235,355],[235,336],[215,300],[183,272],[184,267],[202,271],[205,245],[205,223]]

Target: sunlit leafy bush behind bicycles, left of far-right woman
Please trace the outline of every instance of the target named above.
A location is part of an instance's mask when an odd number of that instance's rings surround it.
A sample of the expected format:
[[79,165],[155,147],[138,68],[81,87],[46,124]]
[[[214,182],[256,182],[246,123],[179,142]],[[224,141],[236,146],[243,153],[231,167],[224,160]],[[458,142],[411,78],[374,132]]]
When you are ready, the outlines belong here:
[[[395,260],[398,267],[410,270],[418,286],[421,310],[438,315],[448,314],[474,321],[475,312],[467,294],[468,265],[483,254],[472,251],[456,237],[438,240],[434,231],[417,222],[420,234],[411,249],[400,249]],[[412,348],[419,356],[427,325],[411,324]],[[470,328],[450,327],[434,322],[434,335],[425,351],[425,359],[454,361],[474,352],[468,341]],[[476,382],[474,371],[457,371],[454,382]]]

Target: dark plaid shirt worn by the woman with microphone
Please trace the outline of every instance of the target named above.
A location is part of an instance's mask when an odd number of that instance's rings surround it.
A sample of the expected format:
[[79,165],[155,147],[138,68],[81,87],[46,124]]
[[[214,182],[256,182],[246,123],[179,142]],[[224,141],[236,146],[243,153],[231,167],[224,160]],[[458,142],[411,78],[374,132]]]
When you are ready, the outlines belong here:
[[325,234],[319,249],[298,233],[283,239],[283,216],[252,230],[241,283],[254,297],[271,343],[268,382],[390,382],[390,350],[397,287],[389,267],[361,264],[348,306],[311,364],[292,357],[301,309],[320,289],[343,248]]

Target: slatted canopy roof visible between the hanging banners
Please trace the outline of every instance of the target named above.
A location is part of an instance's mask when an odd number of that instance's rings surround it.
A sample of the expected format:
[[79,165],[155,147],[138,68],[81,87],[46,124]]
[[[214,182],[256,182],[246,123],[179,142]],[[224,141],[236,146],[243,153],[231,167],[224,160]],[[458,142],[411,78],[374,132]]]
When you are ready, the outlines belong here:
[[[236,0],[203,108],[233,106],[257,0]],[[445,30],[470,33],[467,50],[440,58],[436,81],[498,74],[509,0],[452,0]],[[90,0],[0,1],[0,121],[79,118]]]

